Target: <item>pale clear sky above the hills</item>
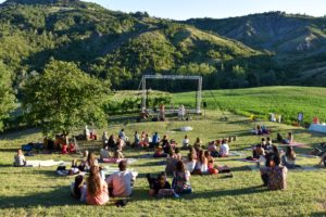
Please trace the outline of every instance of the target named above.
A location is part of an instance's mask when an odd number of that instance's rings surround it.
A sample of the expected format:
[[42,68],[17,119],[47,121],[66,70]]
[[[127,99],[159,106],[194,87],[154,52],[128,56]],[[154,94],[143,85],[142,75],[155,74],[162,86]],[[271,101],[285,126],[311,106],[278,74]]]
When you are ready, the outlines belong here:
[[[229,17],[268,11],[326,14],[326,0],[87,0],[110,10],[147,11],[152,16],[186,20],[190,17]],[[3,2],[3,0],[0,0]]]

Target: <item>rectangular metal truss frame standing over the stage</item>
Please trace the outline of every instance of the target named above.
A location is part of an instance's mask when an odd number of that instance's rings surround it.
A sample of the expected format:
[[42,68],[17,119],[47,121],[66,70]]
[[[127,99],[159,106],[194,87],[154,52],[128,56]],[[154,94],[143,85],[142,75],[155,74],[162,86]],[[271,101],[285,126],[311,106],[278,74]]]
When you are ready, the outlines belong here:
[[147,100],[147,89],[146,80],[147,79],[170,79],[170,80],[198,80],[198,90],[196,93],[196,110],[187,110],[188,113],[201,114],[201,91],[202,91],[202,76],[186,76],[186,75],[143,75],[141,79],[142,85],[142,100],[141,105],[146,107]]

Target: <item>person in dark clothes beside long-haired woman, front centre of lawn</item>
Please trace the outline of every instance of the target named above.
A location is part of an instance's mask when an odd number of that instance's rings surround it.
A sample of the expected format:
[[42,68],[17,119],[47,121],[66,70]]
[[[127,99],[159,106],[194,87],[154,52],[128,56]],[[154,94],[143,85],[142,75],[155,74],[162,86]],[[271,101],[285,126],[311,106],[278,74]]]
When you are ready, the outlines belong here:
[[158,178],[151,178],[150,174],[146,175],[147,180],[150,186],[149,195],[151,196],[174,196],[179,197],[179,195],[171,188],[170,182],[166,180],[166,175],[161,173],[158,175]]

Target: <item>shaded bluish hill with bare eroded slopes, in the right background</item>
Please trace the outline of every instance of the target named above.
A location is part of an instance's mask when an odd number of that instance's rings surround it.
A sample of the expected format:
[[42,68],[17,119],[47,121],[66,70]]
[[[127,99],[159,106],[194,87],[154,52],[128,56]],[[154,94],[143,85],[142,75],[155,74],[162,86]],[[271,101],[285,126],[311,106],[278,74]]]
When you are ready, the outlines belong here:
[[326,17],[268,12],[184,23],[275,53],[278,65],[298,85],[326,85]]

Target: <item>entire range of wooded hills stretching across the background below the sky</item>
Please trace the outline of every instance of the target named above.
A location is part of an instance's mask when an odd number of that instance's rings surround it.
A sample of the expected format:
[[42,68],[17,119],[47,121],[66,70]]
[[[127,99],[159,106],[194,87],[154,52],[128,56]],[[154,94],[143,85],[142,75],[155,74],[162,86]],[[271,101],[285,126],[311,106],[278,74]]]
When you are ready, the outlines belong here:
[[[268,12],[177,22],[79,0],[0,5],[0,61],[16,90],[53,59],[75,62],[114,89],[137,89],[142,74],[202,75],[211,89],[326,85],[324,17]],[[191,86],[149,85],[167,91]]]

